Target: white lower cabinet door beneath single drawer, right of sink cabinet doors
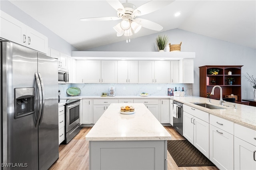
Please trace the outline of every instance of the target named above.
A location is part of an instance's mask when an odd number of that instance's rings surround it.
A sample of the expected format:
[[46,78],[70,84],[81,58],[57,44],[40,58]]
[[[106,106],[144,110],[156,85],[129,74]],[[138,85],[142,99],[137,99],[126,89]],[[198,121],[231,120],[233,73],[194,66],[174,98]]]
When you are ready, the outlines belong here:
[[234,136],[210,125],[210,161],[220,170],[234,169]]

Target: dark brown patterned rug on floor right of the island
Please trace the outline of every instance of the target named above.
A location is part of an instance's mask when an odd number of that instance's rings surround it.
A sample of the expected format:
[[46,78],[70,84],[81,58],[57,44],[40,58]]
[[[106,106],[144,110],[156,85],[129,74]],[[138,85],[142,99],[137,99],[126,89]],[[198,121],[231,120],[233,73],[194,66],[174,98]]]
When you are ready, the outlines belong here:
[[167,149],[178,166],[215,166],[188,140],[168,140]]

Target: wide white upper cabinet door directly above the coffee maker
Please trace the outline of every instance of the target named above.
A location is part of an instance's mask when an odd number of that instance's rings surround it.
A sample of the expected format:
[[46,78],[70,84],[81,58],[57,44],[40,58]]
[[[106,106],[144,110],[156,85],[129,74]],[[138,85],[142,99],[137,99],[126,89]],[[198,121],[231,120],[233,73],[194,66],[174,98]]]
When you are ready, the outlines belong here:
[[117,83],[117,61],[101,61],[101,82]]

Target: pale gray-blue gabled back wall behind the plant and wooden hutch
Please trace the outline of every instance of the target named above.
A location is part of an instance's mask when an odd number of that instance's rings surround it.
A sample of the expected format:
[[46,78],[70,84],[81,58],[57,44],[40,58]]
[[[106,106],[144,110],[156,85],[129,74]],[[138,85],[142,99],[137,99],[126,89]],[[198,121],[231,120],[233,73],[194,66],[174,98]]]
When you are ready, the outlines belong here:
[[[199,96],[198,67],[203,65],[244,65],[242,67],[242,99],[253,99],[252,85],[245,79],[244,75],[248,72],[256,77],[256,49],[180,29],[168,30],[161,34],[167,35],[171,44],[182,42],[181,51],[196,52],[193,95]],[[130,43],[125,41],[112,43],[88,51],[157,51],[156,36],[158,34],[132,39]]]

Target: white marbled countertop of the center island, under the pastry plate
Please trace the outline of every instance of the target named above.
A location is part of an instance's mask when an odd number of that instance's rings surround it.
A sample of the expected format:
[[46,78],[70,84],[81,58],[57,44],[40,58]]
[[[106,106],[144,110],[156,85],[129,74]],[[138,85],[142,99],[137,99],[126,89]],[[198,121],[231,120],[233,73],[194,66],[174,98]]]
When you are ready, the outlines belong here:
[[[112,103],[86,135],[86,140],[170,140],[171,135],[143,103],[130,103],[135,113],[124,115]],[[130,106],[129,105],[129,106]]]

